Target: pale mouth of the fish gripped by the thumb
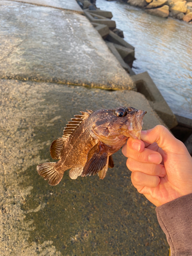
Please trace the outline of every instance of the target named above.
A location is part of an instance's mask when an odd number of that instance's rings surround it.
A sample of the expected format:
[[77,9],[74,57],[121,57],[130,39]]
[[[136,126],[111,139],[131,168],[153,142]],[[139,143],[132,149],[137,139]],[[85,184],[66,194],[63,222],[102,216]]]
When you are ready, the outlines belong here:
[[147,112],[144,110],[137,110],[133,114],[131,120],[129,120],[129,127],[125,132],[126,137],[131,137],[133,139],[141,139],[141,130],[143,125],[143,117]]

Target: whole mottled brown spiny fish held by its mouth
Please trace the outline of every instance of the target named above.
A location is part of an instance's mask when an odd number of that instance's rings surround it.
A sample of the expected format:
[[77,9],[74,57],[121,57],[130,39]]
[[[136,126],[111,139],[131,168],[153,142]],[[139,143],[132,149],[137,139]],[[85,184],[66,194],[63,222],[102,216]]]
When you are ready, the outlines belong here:
[[57,185],[66,170],[71,179],[98,174],[104,179],[114,167],[112,155],[129,137],[140,139],[146,111],[131,106],[116,109],[80,111],[63,130],[61,138],[50,146],[51,157],[57,162],[40,163],[37,172],[52,186]]

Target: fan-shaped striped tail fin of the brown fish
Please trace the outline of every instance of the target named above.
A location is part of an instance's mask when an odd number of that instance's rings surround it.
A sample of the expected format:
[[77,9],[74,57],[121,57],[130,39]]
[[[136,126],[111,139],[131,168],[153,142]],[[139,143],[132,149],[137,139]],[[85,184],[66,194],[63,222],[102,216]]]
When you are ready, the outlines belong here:
[[57,185],[63,176],[63,173],[57,172],[55,163],[40,163],[37,165],[37,172],[44,180],[49,180],[48,183],[52,186]]

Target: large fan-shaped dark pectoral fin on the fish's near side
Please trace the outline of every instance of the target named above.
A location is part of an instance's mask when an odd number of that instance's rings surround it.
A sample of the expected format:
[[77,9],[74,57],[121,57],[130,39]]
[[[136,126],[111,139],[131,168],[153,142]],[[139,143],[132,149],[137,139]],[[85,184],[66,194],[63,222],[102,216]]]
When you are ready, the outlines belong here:
[[104,151],[98,142],[88,153],[81,177],[97,174],[107,164],[108,158],[108,152]]

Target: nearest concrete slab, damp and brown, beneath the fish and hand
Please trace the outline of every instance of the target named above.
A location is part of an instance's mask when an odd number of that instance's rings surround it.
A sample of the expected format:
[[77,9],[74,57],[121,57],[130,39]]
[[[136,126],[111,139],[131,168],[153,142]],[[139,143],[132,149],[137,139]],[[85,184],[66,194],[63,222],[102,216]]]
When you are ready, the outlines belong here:
[[145,109],[144,129],[162,124],[143,95],[63,84],[1,79],[1,255],[155,255],[168,253],[155,206],[131,185],[126,158],[104,180],[71,180],[55,187],[36,172],[51,161],[50,143],[74,114],[132,105]]

